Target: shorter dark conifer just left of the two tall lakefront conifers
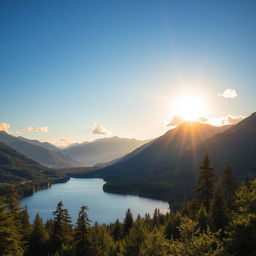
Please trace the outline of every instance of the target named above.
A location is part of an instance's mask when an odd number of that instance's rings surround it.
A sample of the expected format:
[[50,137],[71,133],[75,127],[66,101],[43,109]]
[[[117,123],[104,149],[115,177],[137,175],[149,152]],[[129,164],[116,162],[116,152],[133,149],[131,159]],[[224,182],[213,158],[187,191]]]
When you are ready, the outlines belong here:
[[29,248],[26,253],[28,256],[44,256],[47,253],[48,234],[39,214],[34,219],[32,233],[30,235]]

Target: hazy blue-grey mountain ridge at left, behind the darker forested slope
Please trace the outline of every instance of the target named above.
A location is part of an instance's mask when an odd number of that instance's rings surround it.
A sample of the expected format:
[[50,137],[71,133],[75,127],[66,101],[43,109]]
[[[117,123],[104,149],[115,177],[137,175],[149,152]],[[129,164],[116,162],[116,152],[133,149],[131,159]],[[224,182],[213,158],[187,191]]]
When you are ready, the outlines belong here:
[[0,141],[17,150],[34,161],[53,168],[71,168],[82,166],[62,152],[57,152],[49,143],[30,141],[22,137],[15,137],[6,132],[0,132]]

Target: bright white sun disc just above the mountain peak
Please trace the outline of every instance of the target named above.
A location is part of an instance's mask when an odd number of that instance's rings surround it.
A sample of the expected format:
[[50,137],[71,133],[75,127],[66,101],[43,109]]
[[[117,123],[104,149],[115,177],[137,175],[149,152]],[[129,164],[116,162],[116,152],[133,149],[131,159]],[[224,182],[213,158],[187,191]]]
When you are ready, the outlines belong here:
[[175,114],[186,121],[197,121],[205,114],[203,98],[194,93],[181,95],[175,104]]

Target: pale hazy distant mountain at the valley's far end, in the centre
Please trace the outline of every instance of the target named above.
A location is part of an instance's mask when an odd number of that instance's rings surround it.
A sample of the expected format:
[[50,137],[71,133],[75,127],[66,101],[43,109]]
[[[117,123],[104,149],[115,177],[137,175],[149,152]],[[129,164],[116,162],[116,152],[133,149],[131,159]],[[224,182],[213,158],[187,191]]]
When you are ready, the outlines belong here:
[[104,138],[93,142],[75,144],[62,152],[85,165],[95,165],[123,157],[148,141],[119,137]]

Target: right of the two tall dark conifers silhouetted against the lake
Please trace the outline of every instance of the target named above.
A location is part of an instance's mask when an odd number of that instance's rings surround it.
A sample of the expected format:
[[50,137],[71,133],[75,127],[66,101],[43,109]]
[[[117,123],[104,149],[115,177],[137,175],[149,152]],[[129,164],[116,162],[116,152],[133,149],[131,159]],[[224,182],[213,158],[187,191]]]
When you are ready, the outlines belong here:
[[89,224],[90,220],[87,215],[88,207],[81,206],[78,214],[77,224],[75,228],[75,246],[76,256],[90,255],[90,240],[89,240]]

